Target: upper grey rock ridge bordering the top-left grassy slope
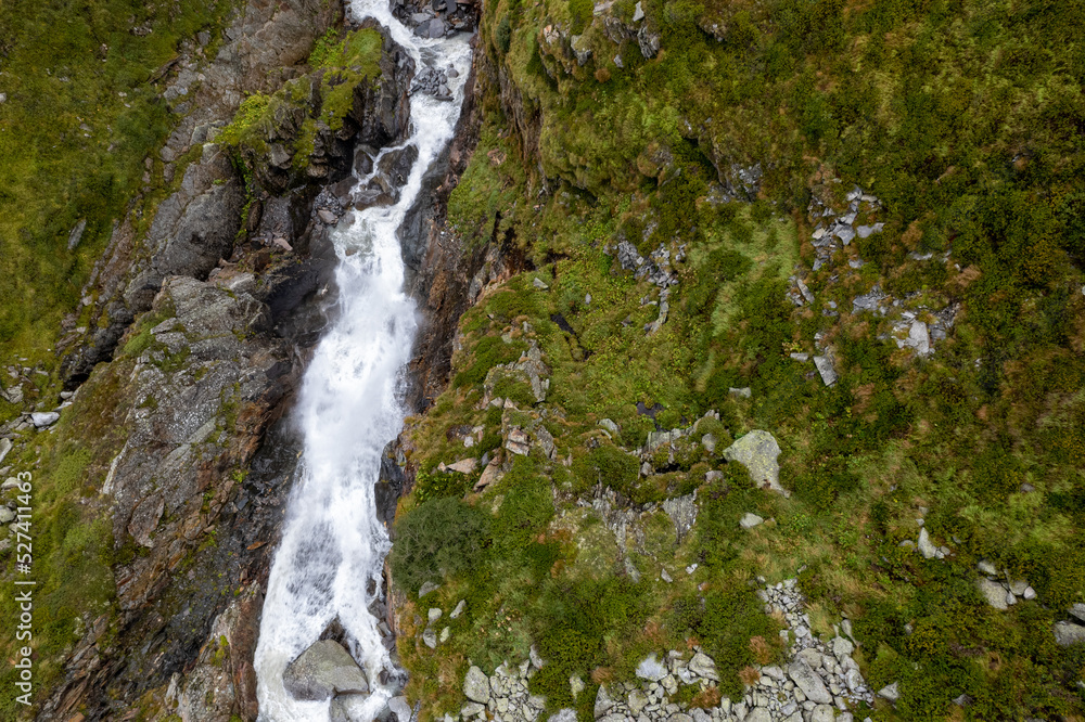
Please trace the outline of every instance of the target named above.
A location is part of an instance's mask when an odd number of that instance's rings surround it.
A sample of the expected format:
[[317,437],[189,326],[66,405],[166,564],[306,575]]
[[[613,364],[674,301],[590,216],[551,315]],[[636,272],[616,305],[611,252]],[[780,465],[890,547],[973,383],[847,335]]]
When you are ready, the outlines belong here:
[[135,317],[150,308],[165,275],[206,278],[220,258],[229,258],[244,205],[242,183],[217,146],[200,149],[229,121],[246,94],[273,90],[298,75],[293,66],[308,56],[314,40],[341,13],[339,3],[321,0],[253,0],[224,31],[225,42],[214,60],[201,66],[191,53],[183,53],[163,68],[163,75],[176,74],[163,99],[180,116],[159,154],[166,182],[184,158],[200,157],[186,170],[180,188],[151,208],[155,217],[149,231],[139,229],[139,217],[146,210],[142,198],[114,229],[82,292],[84,305],[92,307],[91,323],[75,328],[72,317],[72,333],[61,343],[71,349],[62,364],[69,387],[84,381],[95,363],[110,359]]

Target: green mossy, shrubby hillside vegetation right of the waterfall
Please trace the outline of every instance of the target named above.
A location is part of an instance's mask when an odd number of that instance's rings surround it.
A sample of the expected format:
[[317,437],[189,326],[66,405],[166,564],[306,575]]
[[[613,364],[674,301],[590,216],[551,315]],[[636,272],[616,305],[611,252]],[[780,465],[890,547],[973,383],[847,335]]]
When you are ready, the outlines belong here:
[[[477,477],[462,488],[497,518],[531,469],[535,488],[553,490],[552,517],[526,525],[533,536],[514,549],[498,551],[492,527],[489,560],[446,576],[439,603],[467,598],[474,621],[454,626],[436,654],[405,654],[429,713],[462,702],[468,658],[493,668],[523,659],[529,642],[557,660],[553,679],[534,682],[553,705],[573,701],[569,674],[621,679],[638,655],[684,637],[733,661],[720,691],[739,693],[738,668],[773,654],[751,640],[775,630],[743,594],[699,615],[692,581],[653,581],[663,563],[697,560],[698,582],[719,590],[804,569],[817,630],[854,620],[871,685],[899,681],[881,719],[1081,715],[1085,650],[1058,647],[1050,628],[1085,601],[1085,5],[648,0],[643,24],[661,50],[644,59],[634,4],[608,11],[630,28],[621,42],[577,3],[484,13],[487,62],[508,87],[482,99],[449,221],[468,252],[500,244],[528,270],[461,320],[452,384],[413,426],[414,461],[481,457],[454,427],[481,425],[498,442],[513,426],[532,438],[545,428],[552,461],[536,446],[481,494],[468,492]],[[578,61],[569,43],[580,33],[577,50],[591,52]],[[720,202],[719,186],[738,182],[731,164],[754,162],[756,199]],[[815,257],[807,206],[844,208],[855,185],[881,202],[857,222],[884,230],[802,271],[816,298],[796,308],[788,278]],[[621,241],[643,257],[669,252],[678,283],[654,333],[644,326],[659,307],[644,301],[659,289],[621,270]],[[890,319],[853,312],[875,284],[928,322],[954,315],[932,358],[898,349]],[[814,352],[816,335],[833,351],[832,387],[789,358]],[[544,402],[499,394],[487,371],[531,341],[549,370]],[[741,387],[749,400],[731,396]],[[518,410],[487,408],[489,396],[512,396]],[[654,423],[638,402],[659,404]],[[629,452],[649,431],[712,409],[718,449],[751,428],[776,436],[791,498],[752,489],[697,438],[652,454],[654,475],[637,473]],[[710,469],[724,480],[706,485]],[[640,582],[602,520],[573,506],[600,482],[637,505],[698,489],[688,538],[668,537],[665,516],[643,519],[648,542],[627,552]],[[406,499],[401,523],[429,503]],[[745,512],[769,521],[741,530]],[[901,546],[920,517],[950,547],[945,560]],[[983,558],[1027,579],[1037,601],[991,608],[974,586]],[[624,590],[647,616],[630,630],[617,613],[570,629],[557,599],[525,599],[513,583],[582,602]],[[961,694],[971,706],[953,705]]]

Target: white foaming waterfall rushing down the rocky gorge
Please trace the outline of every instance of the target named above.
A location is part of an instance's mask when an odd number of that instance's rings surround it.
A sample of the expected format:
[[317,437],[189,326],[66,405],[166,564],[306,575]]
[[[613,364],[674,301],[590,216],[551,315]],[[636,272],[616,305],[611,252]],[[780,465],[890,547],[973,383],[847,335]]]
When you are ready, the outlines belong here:
[[381,453],[399,433],[403,373],[410,358],[416,309],[404,293],[404,263],[396,231],[413,204],[422,177],[452,138],[471,64],[465,35],[420,39],[388,11],[387,0],[354,0],[355,20],[373,17],[414,59],[454,67],[452,102],[423,93],[411,98],[406,144],[418,159],[394,206],[345,217],[333,235],[339,267],[336,318],[305,373],[296,422],[304,436],[297,481],[291,492],[282,542],[271,566],[255,668],[261,722],[322,722],[328,701],[298,701],[283,689],[282,673],[339,618],[350,653],[366,670],[372,694],[352,709],[368,722],[387,701],[380,673],[396,670],[369,610],[382,594],[390,542],[376,519],[373,485]]

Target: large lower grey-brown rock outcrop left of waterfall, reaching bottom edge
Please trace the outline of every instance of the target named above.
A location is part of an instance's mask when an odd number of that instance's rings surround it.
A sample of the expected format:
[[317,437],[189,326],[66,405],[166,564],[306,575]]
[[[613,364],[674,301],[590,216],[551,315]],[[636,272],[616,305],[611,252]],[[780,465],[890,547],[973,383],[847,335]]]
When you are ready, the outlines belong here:
[[76,705],[107,717],[106,687],[131,699],[168,676],[245,577],[237,560],[213,563],[215,547],[252,502],[247,469],[299,369],[254,289],[250,273],[169,276],[118,358],[75,396],[78,431],[119,447],[98,503],[119,559],[120,633],[100,646],[95,630],[80,643],[41,719],[66,719]]

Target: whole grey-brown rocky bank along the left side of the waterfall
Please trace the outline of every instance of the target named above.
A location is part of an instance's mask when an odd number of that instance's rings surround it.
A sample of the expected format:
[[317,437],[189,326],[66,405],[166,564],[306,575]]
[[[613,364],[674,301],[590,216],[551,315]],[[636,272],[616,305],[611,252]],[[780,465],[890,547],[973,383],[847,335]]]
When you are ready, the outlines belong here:
[[[12,456],[27,428],[58,417],[59,443],[93,439],[80,515],[112,519],[95,527],[113,540],[94,569],[107,575],[101,601],[76,620],[38,719],[256,719],[261,589],[298,449],[289,409],[336,296],[329,235],[359,203],[352,169],[368,172],[361,158],[407,132],[413,63],[367,27],[334,3],[256,3],[213,60],[201,34],[166,68],[179,120],[155,171],[174,190],[133,202],[82,289],[84,325],[65,320],[59,413],[7,427]],[[340,61],[372,67],[306,75],[329,33],[375,38],[370,57]],[[345,113],[303,140],[333,89],[347,92]],[[285,103],[235,118],[245,95]],[[397,172],[388,164],[371,183],[394,193]],[[13,402],[20,388],[9,385]]]

